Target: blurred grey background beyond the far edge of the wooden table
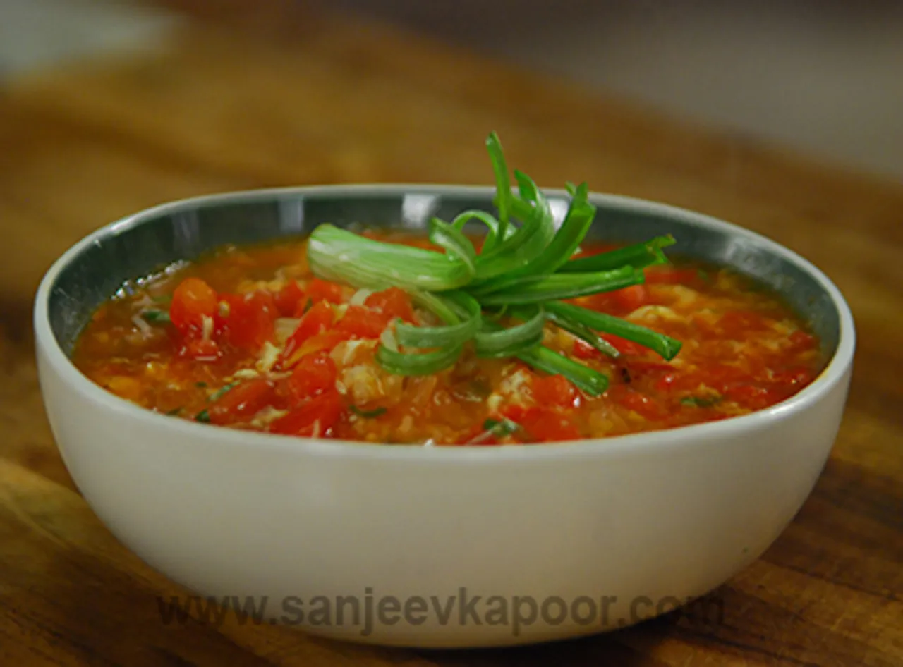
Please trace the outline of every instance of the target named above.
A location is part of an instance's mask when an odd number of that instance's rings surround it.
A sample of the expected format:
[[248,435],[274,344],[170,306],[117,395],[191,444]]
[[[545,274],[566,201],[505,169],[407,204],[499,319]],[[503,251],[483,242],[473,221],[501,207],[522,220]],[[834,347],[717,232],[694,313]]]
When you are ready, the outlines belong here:
[[[903,181],[903,3],[296,0],[349,8],[717,129]],[[236,2],[0,0],[0,77],[153,48]],[[247,0],[253,6],[253,0]]]

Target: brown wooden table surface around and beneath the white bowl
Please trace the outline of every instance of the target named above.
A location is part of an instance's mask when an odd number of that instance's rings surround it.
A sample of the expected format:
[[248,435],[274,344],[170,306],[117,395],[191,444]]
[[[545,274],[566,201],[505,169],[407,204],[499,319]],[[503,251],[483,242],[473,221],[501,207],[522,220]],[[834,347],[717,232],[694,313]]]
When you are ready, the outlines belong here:
[[[202,17],[153,53],[0,92],[0,664],[903,664],[903,187],[386,26],[274,6],[240,29],[228,12]],[[677,614],[467,653],[334,644],[231,618],[163,624],[155,599],[184,591],[111,537],[51,438],[31,331],[42,273],[88,231],[169,199],[305,183],[488,184],[491,129],[541,185],[585,179],[727,218],[833,278],[859,344],[815,492],[760,560],[715,591],[716,624]]]

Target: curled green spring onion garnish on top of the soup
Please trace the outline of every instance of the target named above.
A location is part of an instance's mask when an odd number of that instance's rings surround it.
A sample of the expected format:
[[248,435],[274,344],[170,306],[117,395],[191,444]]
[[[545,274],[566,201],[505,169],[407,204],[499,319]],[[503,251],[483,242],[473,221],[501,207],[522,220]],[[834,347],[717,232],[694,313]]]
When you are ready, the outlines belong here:
[[[478,357],[516,357],[564,375],[595,396],[605,392],[608,378],[544,347],[545,326],[569,331],[610,357],[618,351],[600,331],[675,357],[681,343],[674,338],[563,301],[644,283],[643,269],[667,262],[663,248],[674,245],[674,237],[573,259],[596,215],[587,184],[566,184],[570,201],[556,226],[548,199],[529,176],[513,171],[517,189],[512,187],[496,133],[489,134],[486,149],[498,216],[473,209],[451,222],[432,218],[427,231],[436,250],[379,241],[328,223],[313,230],[307,254],[315,275],[357,289],[403,289],[442,321],[392,322],[377,347],[377,363],[396,375],[432,375],[453,366],[472,345]],[[464,234],[473,223],[486,228],[479,253]],[[513,322],[502,324],[508,319]]]

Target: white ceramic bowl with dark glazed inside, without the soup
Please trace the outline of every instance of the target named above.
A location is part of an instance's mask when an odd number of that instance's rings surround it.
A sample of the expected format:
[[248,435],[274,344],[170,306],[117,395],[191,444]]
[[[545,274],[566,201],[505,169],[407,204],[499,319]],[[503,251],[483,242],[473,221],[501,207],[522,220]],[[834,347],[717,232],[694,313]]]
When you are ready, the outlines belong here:
[[[563,193],[550,196],[560,210]],[[487,188],[429,186],[253,191],[144,211],[72,247],[37,293],[38,366],[62,457],[110,531],[204,596],[265,599],[264,622],[428,647],[526,644],[630,625],[757,559],[832,448],[852,368],[852,316],[812,264],[692,212],[593,199],[597,236],[673,232],[675,251],[758,275],[814,321],[830,363],[769,410],[528,447],[300,440],[144,411],[89,382],[67,357],[90,310],[161,263],[327,219],[422,227],[433,212],[447,219],[489,208],[491,197]],[[349,599],[337,605],[339,596]],[[330,625],[318,597],[329,600]]]

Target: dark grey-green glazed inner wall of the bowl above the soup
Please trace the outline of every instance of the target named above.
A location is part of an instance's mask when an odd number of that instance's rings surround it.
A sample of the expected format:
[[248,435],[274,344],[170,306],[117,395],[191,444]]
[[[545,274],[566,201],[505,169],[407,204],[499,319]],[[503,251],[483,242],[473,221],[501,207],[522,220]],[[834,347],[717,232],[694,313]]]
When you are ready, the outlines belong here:
[[[50,285],[54,337],[68,355],[93,310],[127,281],[189,260],[224,244],[249,244],[339,227],[424,229],[433,216],[450,220],[479,208],[495,212],[494,190],[428,186],[335,186],[189,199],[105,227],[76,246]],[[564,193],[549,191],[555,217]],[[840,338],[841,315],[812,267],[768,239],[712,218],[636,199],[594,195],[599,208],[589,237],[638,242],[672,234],[669,255],[726,264],[779,292],[821,339],[825,359]],[[475,227],[479,229],[479,227]]]

